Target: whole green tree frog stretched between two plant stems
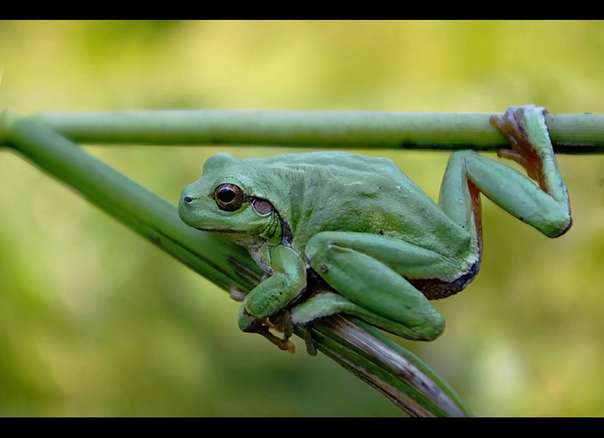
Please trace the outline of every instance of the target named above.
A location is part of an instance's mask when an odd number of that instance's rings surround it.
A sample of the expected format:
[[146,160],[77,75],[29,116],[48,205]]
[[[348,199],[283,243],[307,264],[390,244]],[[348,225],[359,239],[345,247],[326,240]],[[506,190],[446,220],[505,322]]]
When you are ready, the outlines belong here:
[[[344,314],[431,341],[445,327],[431,301],[465,289],[480,269],[481,193],[548,237],[571,227],[545,114],[543,107],[524,105],[490,117],[509,143],[497,155],[526,175],[474,150],[457,150],[438,201],[387,158],[345,151],[248,159],[219,153],[183,188],[178,213],[186,225],[247,248],[264,272],[248,294],[231,291],[242,301],[242,331],[295,351],[292,327]],[[316,279],[328,287],[308,295]],[[286,314],[286,324],[272,321],[278,314]],[[270,332],[275,327],[283,338]]]

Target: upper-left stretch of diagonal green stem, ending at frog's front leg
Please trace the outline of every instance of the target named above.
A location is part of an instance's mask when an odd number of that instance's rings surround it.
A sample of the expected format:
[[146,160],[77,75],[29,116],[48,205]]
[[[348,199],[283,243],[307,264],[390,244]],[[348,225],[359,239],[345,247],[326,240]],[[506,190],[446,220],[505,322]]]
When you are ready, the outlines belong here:
[[[77,144],[10,111],[2,114],[0,126],[0,137],[4,132],[14,150],[210,281],[241,289],[258,282],[260,270],[248,260],[247,251],[218,235],[186,226],[174,205]],[[239,265],[229,262],[233,257]]]

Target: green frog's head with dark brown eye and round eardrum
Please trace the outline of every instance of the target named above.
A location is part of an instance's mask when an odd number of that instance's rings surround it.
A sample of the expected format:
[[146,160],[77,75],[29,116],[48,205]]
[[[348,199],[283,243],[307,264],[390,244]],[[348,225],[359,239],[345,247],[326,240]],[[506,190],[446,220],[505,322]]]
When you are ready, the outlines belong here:
[[180,219],[198,230],[280,238],[279,214],[254,193],[242,163],[228,154],[210,156],[201,178],[180,193]]

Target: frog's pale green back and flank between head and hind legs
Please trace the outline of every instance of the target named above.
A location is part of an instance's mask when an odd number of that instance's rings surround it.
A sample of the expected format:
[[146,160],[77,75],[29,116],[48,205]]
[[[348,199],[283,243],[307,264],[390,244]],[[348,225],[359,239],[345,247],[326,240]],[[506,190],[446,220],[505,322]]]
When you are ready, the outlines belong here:
[[257,196],[271,201],[288,221],[299,249],[316,233],[335,230],[434,246],[441,243],[438,235],[453,227],[433,199],[390,159],[313,152],[251,160],[250,171],[263,172],[252,178],[263,181],[259,190],[264,193]]

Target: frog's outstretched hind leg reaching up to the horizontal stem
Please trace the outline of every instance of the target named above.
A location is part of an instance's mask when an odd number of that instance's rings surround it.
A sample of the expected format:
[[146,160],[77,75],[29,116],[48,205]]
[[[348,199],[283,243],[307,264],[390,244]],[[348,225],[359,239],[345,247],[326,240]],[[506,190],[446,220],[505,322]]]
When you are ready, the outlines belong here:
[[543,111],[534,105],[510,107],[503,117],[491,118],[512,148],[501,149],[499,155],[521,164],[539,186],[516,169],[475,151],[457,151],[449,159],[438,204],[455,223],[474,231],[479,241],[479,191],[549,237],[558,237],[571,226],[568,193]]

